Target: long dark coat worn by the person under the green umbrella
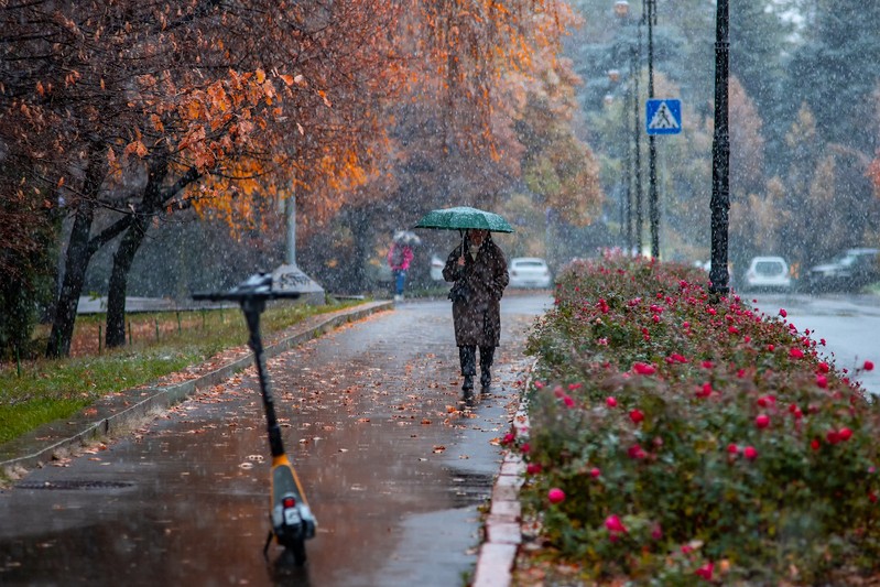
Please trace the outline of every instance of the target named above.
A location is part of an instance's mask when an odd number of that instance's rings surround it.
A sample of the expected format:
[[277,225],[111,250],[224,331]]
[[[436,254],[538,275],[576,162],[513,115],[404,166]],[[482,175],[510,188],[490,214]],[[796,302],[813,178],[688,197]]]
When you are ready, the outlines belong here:
[[460,256],[459,244],[449,253],[443,268],[443,279],[464,280],[469,294],[465,301],[453,302],[455,344],[459,347],[497,347],[501,338],[501,296],[510,281],[504,253],[489,236],[476,260],[466,254],[465,265],[458,267]]

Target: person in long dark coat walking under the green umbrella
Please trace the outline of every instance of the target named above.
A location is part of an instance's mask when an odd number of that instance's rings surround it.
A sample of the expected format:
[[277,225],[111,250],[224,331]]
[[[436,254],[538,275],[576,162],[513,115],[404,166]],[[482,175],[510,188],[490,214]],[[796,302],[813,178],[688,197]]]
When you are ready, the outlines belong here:
[[501,296],[508,286],[508,262],[488,230],[467,230],[461,244],[446,259],[443,279],[456,282],[450,290],[455,344],[467,398],[477,374],[477,347],[480,349],[480,387],[492,381],[495,349],[501,339]]

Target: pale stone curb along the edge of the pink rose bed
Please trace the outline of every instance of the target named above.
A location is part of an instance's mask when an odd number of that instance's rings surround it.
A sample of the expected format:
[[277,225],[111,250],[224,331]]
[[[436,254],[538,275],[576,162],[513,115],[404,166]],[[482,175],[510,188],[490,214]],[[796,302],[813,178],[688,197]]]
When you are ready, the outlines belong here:
[[[531,370],[525,379],[523,394],[529,389],[530,381]],[[511,427],[518,437],[528,434],[529,412],[524,396],[520,399]],[[492,486],[491,508],[486,518],[485,540],[477,555],[471,587],[509,587],[511,584],[511,572],[522,543],[520,488],[524,475],[525,463],[522,457],[508,450]]]

